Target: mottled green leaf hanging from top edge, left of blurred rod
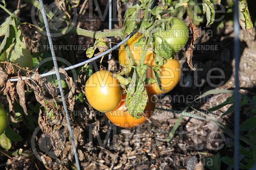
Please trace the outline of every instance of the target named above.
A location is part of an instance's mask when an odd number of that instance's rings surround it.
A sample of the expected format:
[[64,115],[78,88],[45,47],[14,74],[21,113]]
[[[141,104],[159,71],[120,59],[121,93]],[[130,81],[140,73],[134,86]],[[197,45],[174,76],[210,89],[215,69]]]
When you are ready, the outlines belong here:
[[211,25],[214,22],[215,10],[214,10],[214,5],[211,3],[210,0],[203,0],[203,12],[204,14],[206,13],[206,18],[207,18],[206,26]]

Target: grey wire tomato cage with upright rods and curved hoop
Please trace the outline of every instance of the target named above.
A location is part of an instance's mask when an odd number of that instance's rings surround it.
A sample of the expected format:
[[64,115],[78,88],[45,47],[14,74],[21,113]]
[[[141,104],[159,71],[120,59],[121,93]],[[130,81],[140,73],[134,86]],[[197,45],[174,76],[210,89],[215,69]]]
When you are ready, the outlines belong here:
[[[46,33],[47,33],[47,38],[49,41],[49,45],[50,45],[50,50],[51,50],[51,54],[52,54],[52,60],[53,60],[53,64],[54,64],[54,71],[50,71],[44,74],[40,74],[41,77],[46,77],[49,75],[53,75],[56,74],[57,76],[57,80],[58,80],[58,85],[59,85],[59,89],[60,89],[60,95],[61,95],[61,100],[62,100],[62,104],[63,104],[63,108],[65,110],[65,116],[66,116],[66,120],[67,120],[67,124],[68,124],[68,131],[69,131],[69,135],[71,138],[71,142],[72,142],[72,147],[73,147],[73,151],[74,151],[74,156],[75,156],[75,160],[76,160],[76,166],[77,166],[77,170],[80,170],[80,165],[79,165],[79,160],[77,157],[77,152],[76,152],[76,145],[75,145],[75,141],[74,141],[74,137],[73,137],[73,132],[72,132],[72,128],[70,125],[70,120],[69,120],[69,116],[68,116],[68,109],[67,109],[67,105],[65,102],[65,97],[64,97],[64,93],[63,93],[63,89],[62,89],[62,84],[61,84],[61,79],[60,79],[60,73],[59,73],[59,67],[57,64],[57,60],[56,60],[56,56],[55,56],[55,52],[53,49],[53,43],[52,43],[52,36],[51,36],[51,32],[49,30],[49,25],[47,22],[47,17],[45,14],[45,10],[44,10],[44,4],[43,4],[43,0],[39,0],[40,3],[40,8],[41,8],[41,12],[42,12],[42,16],[44,19],[44,25],[45,25],[45,29],[46,29]],[[235,146],[234,146],[234,168],[235,170],[239,169],[239,77],[238,77],[238,71],[239,71],[239,57],[240,57],[240,40],[239,40],[239,31],[240,31],[240,25],[239,25],[239,20],[238,20],[238,0],[235,0],[235,12],[234,12],[234,58],[235,58]],[[153,7],[153,6],[152,6]],[[151,7],[151,9],[152,9]],[[109,29],[112,28],[112,0],[109,0]],[[112,48],[108,49],[107,51],[105,51],[104,53],[101,53],[100,55],[97,55],[91,59],[85,60],[83,62],[80,62],[78,64],[75,64],[73,66],[70,67],[65,67],[63,68],[64,70],[71,70],[71,69],[75,69],[77,67],[83,66],[87,63],[90,63],[94,60],[99,59],[100,57],[107,55],[108,53],[110,53],[111,51],[115,50],[116,48],[118,48],[119,46],[121,46],[122,44],[124,44],[128,39],[130,39],[133,36],[134,33],[131,33],[129,36],[127,36],[123,41],[121,41],[120,43],[118,43],[116,46],[113,46]],[[111,39],[110,39],[111,41]],[[110,44],[111,47],[111,44]],[[108,59],[110,59],[111,56],[110,54],[108,55]],[[23,77],[22,80],[26,80],[26,79],[33,79],[33,76],[31,77]],[[11,78],[9,79],[10,81],[18,81],[18,78]],[[109,145],[109,139],[108,139],[108,145]]]

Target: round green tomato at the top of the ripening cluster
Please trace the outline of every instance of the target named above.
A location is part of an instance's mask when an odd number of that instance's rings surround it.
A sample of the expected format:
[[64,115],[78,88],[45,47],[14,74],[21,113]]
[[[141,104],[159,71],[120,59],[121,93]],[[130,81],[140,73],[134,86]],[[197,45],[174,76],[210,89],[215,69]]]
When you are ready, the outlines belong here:
[[164,39],[170,45],[172,52],[177,53],[188,41],[188,27],[181,19],[172,18],[170,30],[156,31],[153,36],[159,45]]

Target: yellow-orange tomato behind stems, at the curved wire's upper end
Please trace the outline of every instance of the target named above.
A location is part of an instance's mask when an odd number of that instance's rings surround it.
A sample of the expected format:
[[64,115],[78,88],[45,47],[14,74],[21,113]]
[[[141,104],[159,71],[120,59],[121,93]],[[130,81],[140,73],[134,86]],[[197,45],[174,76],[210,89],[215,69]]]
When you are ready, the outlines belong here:
[[[135,66],[138,66],[140,64],[140,57],[142,54],[142,47],[141,46],[135,46],[134,43],[139,41],[140,37],[142,37],[143,34],[136,32],[130,39],[127,41],[127,45],[129,46],[131,52],[132,52],[132,57],[134,60]],[[144,59],[144,64],[151,65],[153,62],[153,56],[149,55],[153,53],[152,51],[148,50]],[[128,58],[128,55],[125,51],[124,45],[120,46],[119,53],[118,53],[118,58],[120,64],[125,64],[125,65],[131,65],[131,62]],[[131,67],[127,69],[125,75],[128,75],[131,71]]]

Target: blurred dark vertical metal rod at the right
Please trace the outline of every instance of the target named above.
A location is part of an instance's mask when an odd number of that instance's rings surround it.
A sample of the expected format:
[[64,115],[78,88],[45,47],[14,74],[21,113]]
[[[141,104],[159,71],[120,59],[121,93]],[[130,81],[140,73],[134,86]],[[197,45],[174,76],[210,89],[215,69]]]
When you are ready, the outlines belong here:
[[240,60],[240,25],[238,20],[238,0],[235,2],[234,12],[234,58],[235,58],[235,145],[234,145],[234,167],[239,170],[239,60]]

